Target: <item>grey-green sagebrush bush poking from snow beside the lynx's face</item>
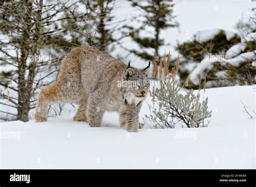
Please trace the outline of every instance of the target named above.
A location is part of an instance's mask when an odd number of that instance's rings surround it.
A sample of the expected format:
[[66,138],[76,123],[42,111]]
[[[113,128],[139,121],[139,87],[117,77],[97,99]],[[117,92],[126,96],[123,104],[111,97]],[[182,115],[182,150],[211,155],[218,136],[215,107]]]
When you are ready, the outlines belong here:
[[[166,62],[165,62],[166,63]],[[190,127],[206,127],[210,122],[211,111],[208,111],[207,101],[200,98],[200,87],[197,95],[193,89],[187,91],[185,95],[180,93],[180,87],[176,81],[179,62],[176,68],[172,68],[172,73],[160,80],[159,88],[150,92],[153,107],[150,106],[150,116],[145,115],[154,122],[155,128],[174,128],[177,125]],[[204,88],[205,91],[205,88]]]

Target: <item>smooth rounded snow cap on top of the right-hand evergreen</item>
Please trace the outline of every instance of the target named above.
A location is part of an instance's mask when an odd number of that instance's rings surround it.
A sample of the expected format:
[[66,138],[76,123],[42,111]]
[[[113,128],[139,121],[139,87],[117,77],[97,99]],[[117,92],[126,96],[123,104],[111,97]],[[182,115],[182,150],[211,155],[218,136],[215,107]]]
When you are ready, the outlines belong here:
[[[221,31],[221,29],[219,29],[219,28],[214,28],[212,30],[198,31],[195,34],[195,39],[198,42],[206,42],[206,41],[213,39],[215,37],[215,35],[219,34],[220,31]],[[224,30],[224,32],[226,34],[227,40],[230,40],[231,38],[234,37],[235,33],[231,32],[231,31],[225,31],[225,30]]]

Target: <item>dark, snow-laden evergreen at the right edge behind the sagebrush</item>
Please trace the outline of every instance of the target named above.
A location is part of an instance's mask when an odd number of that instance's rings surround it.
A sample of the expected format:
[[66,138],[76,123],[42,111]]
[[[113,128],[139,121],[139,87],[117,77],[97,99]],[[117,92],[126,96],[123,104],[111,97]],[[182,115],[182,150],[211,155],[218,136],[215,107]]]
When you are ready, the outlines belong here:
[[[241,42],[241,40],[242,38],[238,34],[234,34],[232,38],[227,39],[225,31],[220,30],[219,33],[208,41],[198,41],[195,37],[192,41],[178,44],[176,49],[181,54],[181,68],[179,71],[181,85],[185,84],[187,88],[198,88],[200,78],[203,80],[206,78],[208,88],[225,87],[235,84],[253,84],[252,75],[256,73],[256,68],[252,66],[253,58],[247,59],[243,55],[247,52],[254,51],[255,40],[244,42]],[[235,54],[235,52],[233,56],[228,57],[226,55],[228,50],[235,45],[244,47],[241,48],[238,54]],[[208,58],[211,56],[213,56],[212,60]],[[219,59],[218,56],[224,56],[224,59]],[[239,56],[244,59],[242,59],[241,63],[239,62],[238,66],[228,63],[232,58],[238,58]],[[187,69],[186,67],[190,67],[191,62],[197,67],[200,63],[207,60],[207,58],[208,61],[213,63],[205,67],[200,75],[197,75],[197,81],[188,81],[187,76],[190,74],[191,69]],[[233,61],[235,60],[233,59]]]

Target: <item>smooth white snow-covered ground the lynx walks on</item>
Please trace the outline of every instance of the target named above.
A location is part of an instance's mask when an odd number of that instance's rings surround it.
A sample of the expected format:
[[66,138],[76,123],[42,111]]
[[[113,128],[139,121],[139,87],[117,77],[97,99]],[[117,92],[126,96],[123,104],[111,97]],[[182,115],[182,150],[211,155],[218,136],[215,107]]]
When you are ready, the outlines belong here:
[[[255,86],[255,85],[254,85]],[[105,113],[103,127],[89,127],[66,114],[44,123],[0,123],[2,169],[255,169],[253,86],[206,89],[211,123],[205,128],[119,127],[117,113]],[[149,114],[148,96],[140,120]],[[8,136],[8,135],[11,135]]]

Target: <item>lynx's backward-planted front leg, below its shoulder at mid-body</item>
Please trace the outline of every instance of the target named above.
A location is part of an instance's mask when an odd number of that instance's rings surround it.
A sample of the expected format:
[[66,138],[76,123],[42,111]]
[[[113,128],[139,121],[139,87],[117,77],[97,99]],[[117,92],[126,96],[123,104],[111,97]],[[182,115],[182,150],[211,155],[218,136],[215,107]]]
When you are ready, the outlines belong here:
[[91,127],[100,127],[104,111],[98,107],[94,100],[90,99],[87,105],[87,122]]

